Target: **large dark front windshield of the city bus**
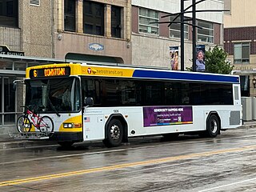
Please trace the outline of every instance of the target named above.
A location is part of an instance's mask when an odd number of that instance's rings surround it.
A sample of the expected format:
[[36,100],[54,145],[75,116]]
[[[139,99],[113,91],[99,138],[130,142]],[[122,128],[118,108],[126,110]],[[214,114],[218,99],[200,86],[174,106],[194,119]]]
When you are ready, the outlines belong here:
[[[78,78],[49,78],[26,81],[26,106],[45,113],[80,110]],[[40,106],[40,107],[39,107]]]

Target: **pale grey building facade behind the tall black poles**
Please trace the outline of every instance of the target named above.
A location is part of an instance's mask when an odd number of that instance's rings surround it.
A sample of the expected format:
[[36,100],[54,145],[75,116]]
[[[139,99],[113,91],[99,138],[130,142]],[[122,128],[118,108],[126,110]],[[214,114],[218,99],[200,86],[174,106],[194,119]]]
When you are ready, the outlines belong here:
[[[180,50],[180,25],[151,22],[169,22],[172,17],[162,17],[166,14],[179,13],[180,0],[132,0],[132,63],[139,66],[161,66],[170,68],[170,49]],[[192,1],[184,1],[185,9]],[[198,3],[197,10],[223,10],[222,1],[211,0]],[[191,8],[190,8],[191,10]],[[196,30],[197,45],[205,46],[206,50],[223,42],[223,13],[201,12],[197,13]],[[192,14],[186,14],[185,19],[190,20]],[[175,20],[180,21],[180,19]],[[192,23],[191,21],[188,21]],[[185,69],[192,66],[192,26],[185,25]],[[180,56],[179,56],[180,57]],[[178,64],[178,70],[180,63]]]

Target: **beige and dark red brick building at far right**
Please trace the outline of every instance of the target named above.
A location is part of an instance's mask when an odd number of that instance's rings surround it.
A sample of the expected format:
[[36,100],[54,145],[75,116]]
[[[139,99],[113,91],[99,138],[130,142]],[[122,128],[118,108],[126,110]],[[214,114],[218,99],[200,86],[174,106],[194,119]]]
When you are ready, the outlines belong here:
[[256,15],[254,0],[224,0],[224,48],[239,74],[242,96],[256,96]]

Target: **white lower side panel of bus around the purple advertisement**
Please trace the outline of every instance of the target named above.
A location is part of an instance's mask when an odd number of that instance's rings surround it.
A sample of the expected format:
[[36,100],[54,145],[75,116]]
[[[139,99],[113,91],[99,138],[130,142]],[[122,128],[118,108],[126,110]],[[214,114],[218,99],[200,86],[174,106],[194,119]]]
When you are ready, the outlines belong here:
[[[83,134],[85,141],[101,140],[105,138],[106,122],[111,115],[122,115],[127,123],[128,137],[184,133],[206,130],[206,119],[210,112],[217,113],[221,119],[222,129],[236,128],[242,125],[241,106],[192,106],[193,120],[191,124],[144,126],[143,107],[88,107],[83,116]],[[233,113],[234,112],[234,113]],[[231,114],[238,115],[233,117]],[[89,120],[88,120],[89,118]],[[132,134],[132,132],[134,134]]]

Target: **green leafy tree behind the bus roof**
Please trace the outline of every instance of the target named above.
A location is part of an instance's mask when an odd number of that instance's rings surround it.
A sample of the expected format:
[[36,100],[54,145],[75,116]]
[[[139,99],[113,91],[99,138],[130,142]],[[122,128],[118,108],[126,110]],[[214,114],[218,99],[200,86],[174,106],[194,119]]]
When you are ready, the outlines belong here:
[[225,50],[214,46],[213,50],[206,50],[206,72],[214,74],[231,74],[234,66],[226,61],[227,53]]

